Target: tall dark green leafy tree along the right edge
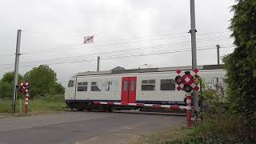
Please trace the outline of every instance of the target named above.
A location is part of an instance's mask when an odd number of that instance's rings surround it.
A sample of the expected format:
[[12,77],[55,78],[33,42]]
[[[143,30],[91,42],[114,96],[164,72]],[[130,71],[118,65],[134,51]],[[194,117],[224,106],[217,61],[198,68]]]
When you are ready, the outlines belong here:
[[230,110],[242,115],[246,138],[256,141],[256,1],[237,2],[230,25],[236,48],[224,58]]

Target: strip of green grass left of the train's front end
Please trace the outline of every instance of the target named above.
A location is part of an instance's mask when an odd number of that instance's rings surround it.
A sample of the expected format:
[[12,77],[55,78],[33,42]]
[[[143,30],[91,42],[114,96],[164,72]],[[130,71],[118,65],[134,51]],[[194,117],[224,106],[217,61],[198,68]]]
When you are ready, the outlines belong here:
[[[22,109],[21,105],[22,103]],[[12,114],[12,101],[0,99],[0,115]],[[28,114],[48,114],[64,110],[66,103],[64,102],[63,94],[48,95],[46,97],[38,97],[30,99]],[[22,98],[22,102],[18,99],[16,102],[16,113],[19,114],[22,110],[22,115],[25,114],[25,98]]]

